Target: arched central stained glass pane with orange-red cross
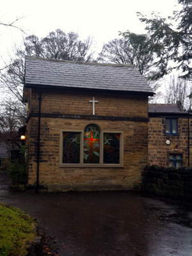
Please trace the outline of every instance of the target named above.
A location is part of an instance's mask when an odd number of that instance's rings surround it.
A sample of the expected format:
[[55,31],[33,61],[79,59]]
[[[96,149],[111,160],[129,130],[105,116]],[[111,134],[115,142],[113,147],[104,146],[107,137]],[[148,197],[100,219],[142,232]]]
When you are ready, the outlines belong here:
[[100,159],[100,129],[95,124],[84,129],[83,162],[98,164]]

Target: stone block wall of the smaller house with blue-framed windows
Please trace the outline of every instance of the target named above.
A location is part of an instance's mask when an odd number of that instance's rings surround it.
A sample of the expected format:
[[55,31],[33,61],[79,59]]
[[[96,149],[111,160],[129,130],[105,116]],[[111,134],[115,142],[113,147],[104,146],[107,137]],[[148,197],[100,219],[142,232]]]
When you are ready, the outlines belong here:
[[[189,129],[191,134],[191,120],[189,122]],[[170,141],[170,145],[166,145],[166,140]],[[189,147],[191,147],[191,140],[189,143]],[[182,154],[183,166],[188,166],[187,117],[178,118],[177,135],[165,134],[165,118],[150,118],[148,123],[148,163],[151,165],[168,166],[169,154]]]

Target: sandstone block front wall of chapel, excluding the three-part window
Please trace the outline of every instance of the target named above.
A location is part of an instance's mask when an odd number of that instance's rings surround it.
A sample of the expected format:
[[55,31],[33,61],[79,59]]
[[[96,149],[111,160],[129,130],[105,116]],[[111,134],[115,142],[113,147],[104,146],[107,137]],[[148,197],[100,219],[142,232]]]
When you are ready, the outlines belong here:
[[[29,115],[38,113],[38,93],[29,95]],[[95,118],[92,118],[93,94],[42,93],[42,115],[60,113],[86,115],[83,118],[41,117],[40,131],[40,185],[49,191],[136,189],[141,186],[141,172],[148,160],[147,97],[95,94]],[[138,99],[137,99],[138,98]],[[68,102],[68,103],[67,103]],[[115,120],[97,116],[140,116],[146,120]],[[97,124],[104,131],[124,132],[124,167],[60,167],[60,131],[84,129]],[[38,117],[31,116],[27,125],[28,184],[35,185],[37,166]]]

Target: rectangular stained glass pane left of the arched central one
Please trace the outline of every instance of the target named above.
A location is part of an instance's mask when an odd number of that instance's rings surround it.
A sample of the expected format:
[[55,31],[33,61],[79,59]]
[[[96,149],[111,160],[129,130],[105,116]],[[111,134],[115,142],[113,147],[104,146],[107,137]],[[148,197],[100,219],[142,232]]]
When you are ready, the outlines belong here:
[[80,132],[63,132],[63,163],[80,163]]

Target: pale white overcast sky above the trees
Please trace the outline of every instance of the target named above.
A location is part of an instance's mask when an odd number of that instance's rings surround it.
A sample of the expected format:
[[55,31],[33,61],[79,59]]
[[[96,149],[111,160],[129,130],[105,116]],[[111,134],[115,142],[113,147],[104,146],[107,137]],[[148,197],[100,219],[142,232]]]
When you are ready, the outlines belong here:
[[[28,35],[46,36],[57,28],[74,31],[81,38],[93,36],[97,51],[102,44],[118,36],[118,31],[129,29],[143,33],[136,12],[149,14],[159,12],[162,17],[172,15],[177,0],[6,0],[1,3],[1,22],[11,22],[23,17],[17,26]],[[0,55],[6,56],[13,44],[20,44],[27,36],[13,28],[0,27]]]

